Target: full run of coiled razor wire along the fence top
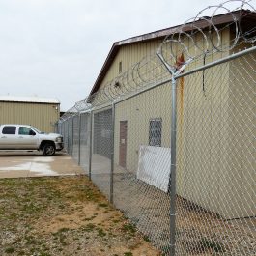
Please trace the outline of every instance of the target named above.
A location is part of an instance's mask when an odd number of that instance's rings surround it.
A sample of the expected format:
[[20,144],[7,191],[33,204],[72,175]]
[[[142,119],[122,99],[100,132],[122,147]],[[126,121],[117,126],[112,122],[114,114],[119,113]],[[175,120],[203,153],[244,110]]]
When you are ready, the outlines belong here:
[[[228,0],[203,9],[195,17],[189,18],[184,24],[172,30],[151,54],[104,84],[95,94],[76,102],[63,115],[60,122],[67,120],[77,112],[88,111],[92,107],[107,102],[111,103],[132,92],[166,80],[170,77],[170,72],[166,70],[157,54],[175,71],[180,69],[181,65],[189,67],[191,63],[200,62],[202,59],[205,63],[208,56],[230,52],[235,47],[242,47],[245,43],[255,43],[256,26],[249,27],[245,31],[242,28],[242,19],[255,14],[255,9],[250,2],[250,0]],[[229,5],[237,7],[231,9]],[[211,13],[211,15],[206,13]],[[226,20],[220,27],[217,23],[219,13],[224,13]],[[223,43],[222,33],[227,29],[232,30],[234,38],[228,43]]]

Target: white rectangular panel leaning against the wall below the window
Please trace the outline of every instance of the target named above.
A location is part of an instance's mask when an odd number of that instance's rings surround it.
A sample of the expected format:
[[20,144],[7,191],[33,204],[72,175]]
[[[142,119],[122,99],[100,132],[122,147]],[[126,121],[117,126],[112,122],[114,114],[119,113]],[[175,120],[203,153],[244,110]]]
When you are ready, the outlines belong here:
[[167,192],[170,173],[170,148],[140,146],[137,179]]

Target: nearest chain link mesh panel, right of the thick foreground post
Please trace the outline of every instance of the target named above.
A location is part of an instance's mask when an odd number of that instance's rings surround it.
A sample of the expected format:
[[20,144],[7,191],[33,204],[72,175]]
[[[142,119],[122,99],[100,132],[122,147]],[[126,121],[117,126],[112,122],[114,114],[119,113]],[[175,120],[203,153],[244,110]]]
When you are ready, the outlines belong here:
[[255,57],[178,80],[178,255],[255,255]]

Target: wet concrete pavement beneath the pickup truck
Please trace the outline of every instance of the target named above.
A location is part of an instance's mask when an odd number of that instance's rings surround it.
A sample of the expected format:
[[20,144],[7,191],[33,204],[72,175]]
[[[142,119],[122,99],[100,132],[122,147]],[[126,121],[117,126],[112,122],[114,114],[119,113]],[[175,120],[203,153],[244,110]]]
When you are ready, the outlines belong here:
[[43,156],[42,152],[1,152],[0,179],[85,174],[71,156],[58,152]]

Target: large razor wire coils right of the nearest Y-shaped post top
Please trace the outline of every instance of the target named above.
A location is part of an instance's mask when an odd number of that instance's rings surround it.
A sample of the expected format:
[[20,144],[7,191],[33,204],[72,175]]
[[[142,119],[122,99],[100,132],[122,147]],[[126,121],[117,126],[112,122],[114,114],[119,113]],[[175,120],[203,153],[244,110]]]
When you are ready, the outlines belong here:
[[[176,28],[172,34],[165,37],[160,44],[158,52],[164,60],[172,67],[176,68],[177,58],[184,54],[186,62],[198,59],[201,56],[209,55],[214,52],[230,51],[237,46],[240,39],[245,43],[254,43],[256,40],[255,27],[250,31],[242,31],[242,19],[255,12],[250,1],[229,0],[217,6],[209,6],[200,11],[195,17],[185,21],[182,26]],[[229,4],[238,4],[237,8],[231,10]],[[246,9],[246,10],[245,10]],[[206,11],[212,14],[205,15]],[[225,11],[227,23],[218,28],[216,14]],[[230,44],[223,44],[221,33],[227,28],[232,28],[234,39]],[[200,41],[197,42],[198,35]],[[187,46],[191,45],[191,46]]]

